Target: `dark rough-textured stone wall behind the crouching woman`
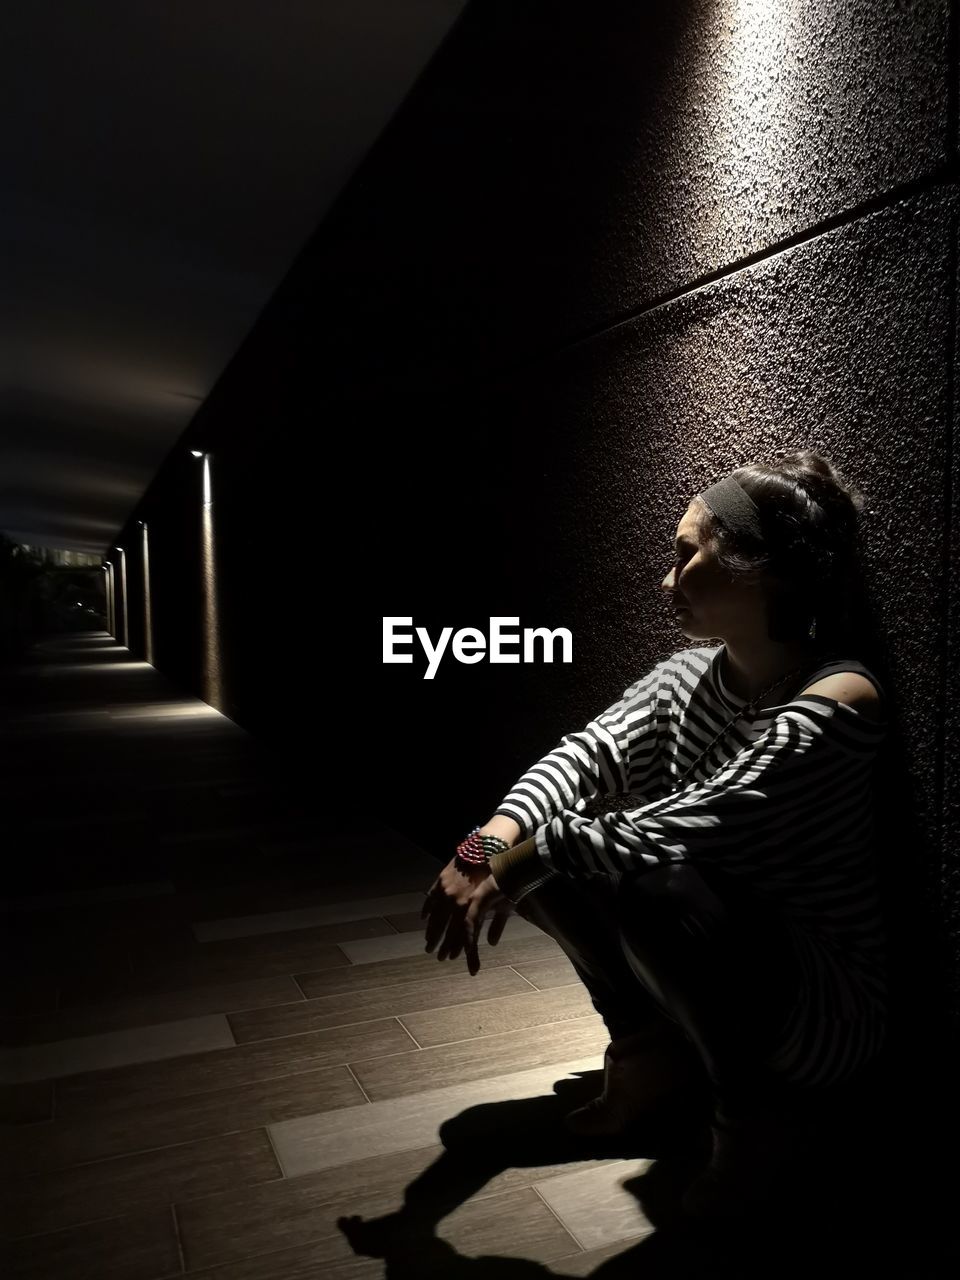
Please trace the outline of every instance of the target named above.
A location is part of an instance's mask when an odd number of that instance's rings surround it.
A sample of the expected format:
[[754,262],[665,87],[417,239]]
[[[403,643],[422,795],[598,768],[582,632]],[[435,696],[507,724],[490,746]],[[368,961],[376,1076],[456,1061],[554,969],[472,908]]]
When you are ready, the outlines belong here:
[[[157,666],[200,691],[214,451],[224,709],[445,860],[686,646],[690,498],[824,451],[869,498],[902,998],[960,1018],[957,6],[786,8],[468,6],[124,536],[148,518]],[[384,616],[564,626],[575,660],[425,681]]]

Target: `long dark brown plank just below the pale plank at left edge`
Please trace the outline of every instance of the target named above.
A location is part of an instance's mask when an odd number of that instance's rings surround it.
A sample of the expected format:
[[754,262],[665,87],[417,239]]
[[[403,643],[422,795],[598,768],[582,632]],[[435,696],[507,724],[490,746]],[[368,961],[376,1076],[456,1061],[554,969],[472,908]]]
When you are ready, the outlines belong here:
[[346,1066],[328,1066],[132,1108],[13,1129],[6,1160],[18,1172],[50,1172],[113,1156],[259,1129],[302,1116],[369,1107]]

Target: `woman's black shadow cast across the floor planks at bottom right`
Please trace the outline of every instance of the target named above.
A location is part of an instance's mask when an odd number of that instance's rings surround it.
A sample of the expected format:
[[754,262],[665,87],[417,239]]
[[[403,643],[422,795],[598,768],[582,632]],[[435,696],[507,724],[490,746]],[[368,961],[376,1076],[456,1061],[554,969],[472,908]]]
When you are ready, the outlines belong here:
[[[778,1280],[810,1280],[824,1268],[831,1276],[876,1271],[910,1280],[960,1274],[952,1229],[959,1188],[950,1158],[960,1133],[957,1116],[943,1111],[947,1094],[936,1087],[925,1094],[913,1094],[911,1087],[906,1105],[901,1068],[878,1073],[842,1114],[831,1112],[818,1126],[823,1135],[818,1132],[815,1156],[797,1165],[763,1213],[709,1225],[686,1217],[681,1207],[684,1188],[709,1156],[703,1112],[664,1112],[618,1139],[576,1137],[563,1128],[562,1116],[599,1093],[600,1076],[585,1073],[558,1082],[552,1096],[481,1103],[445,1121],[440,1140],[447,1149],[410,1184],[398,1212],[370,1221],[337,1220],[353,1252],[383,1258],[389,1280],[485,1275],[768,1280],[771,1274]],[[637,1201],[636,1234],[649,1234],[595,1270],[577,1267],[570,1254],[558,1260],[556,1271],[502,1254],[463,1257],[435,1234],[447,1215],[503,1170],[643,1157],[650,1165],[621,1185]]]

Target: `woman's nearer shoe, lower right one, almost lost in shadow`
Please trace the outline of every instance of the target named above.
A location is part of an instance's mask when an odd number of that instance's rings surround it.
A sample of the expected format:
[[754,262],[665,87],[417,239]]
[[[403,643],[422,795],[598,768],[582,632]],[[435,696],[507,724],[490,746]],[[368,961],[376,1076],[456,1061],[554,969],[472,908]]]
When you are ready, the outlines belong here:
[[682,1206],[689,1217],[714,1222],[769,1208],[818,1142],[810,1116],[765,1106],[736,1117],[716,1112],[710,1133],[709,1162]]

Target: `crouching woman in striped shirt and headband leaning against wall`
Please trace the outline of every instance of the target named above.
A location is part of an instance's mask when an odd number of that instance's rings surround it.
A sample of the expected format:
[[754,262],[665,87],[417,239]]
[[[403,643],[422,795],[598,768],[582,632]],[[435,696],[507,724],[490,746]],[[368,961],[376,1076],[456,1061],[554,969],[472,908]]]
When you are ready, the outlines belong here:
[[[872,859],[884,695],[850,657],[863,495],[804,449],[694,498],[663,590],[692,645],[534,764],[428,895],[426,950],[513,906],[557,938],[607,1023],[618,1132],[705,1080],[713,1151],[685,1210],[749,1208],[806,1105],[883,1043]],[[721,644],[701,641],[719,637]]]

